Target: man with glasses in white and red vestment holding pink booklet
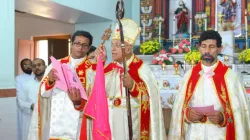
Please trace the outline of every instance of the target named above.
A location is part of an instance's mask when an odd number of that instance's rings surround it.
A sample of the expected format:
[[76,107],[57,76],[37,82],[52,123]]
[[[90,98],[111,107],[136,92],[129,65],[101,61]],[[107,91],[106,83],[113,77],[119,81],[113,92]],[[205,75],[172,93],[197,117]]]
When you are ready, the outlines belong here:
[[[86,55],[92,39],[90,33],[76,31],[72,36],[71,54],[59,60],[75,70],[85,90],[90,86],[89,79],[93,74],[92,64]],[[77,90],[65,92],[56,88],[56,80],[56,71],[50,65],[40,85],[28,139],[77,140],[82,137],[87,140],[87,131],[90,130],[86,126],[86,117],[81,112],[86,101],[81,100]]]

